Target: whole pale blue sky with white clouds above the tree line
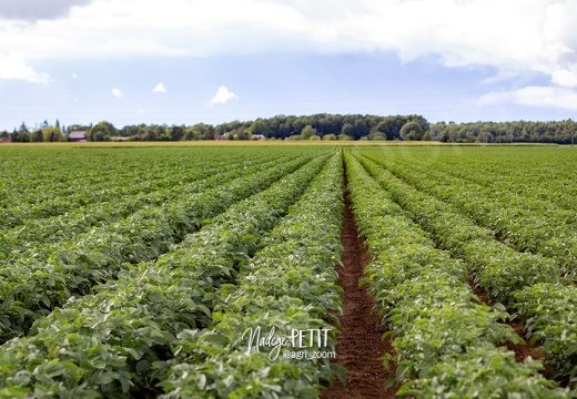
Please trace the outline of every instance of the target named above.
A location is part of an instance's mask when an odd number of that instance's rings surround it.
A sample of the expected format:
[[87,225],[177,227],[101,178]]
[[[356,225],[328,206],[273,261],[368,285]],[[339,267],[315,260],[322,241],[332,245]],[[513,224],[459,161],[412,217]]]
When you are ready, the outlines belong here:
[[577,116],[576,0],[1,0],[0,130]]

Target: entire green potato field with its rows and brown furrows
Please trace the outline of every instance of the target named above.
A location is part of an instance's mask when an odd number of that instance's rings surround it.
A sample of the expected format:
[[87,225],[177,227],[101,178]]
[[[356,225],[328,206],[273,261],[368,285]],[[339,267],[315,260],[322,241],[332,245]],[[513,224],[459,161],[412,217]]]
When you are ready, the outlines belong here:
[[7,145],[0,170],[0,398],[577,397],[573,147]]

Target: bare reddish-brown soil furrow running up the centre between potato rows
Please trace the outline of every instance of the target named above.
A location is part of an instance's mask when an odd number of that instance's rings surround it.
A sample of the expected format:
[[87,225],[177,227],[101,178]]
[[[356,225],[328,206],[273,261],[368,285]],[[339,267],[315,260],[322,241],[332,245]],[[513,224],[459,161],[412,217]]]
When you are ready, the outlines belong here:
[[398,387],[383,389],[384,382],[395,377],[395,365],[387,371],[379,359],[385,352],[394,354],[391,339],[381,339],[385,329],[378,327],[381,317],[373,313],[375,300],[358,288],[363,268],[371,262],[364,241],[358,236],[353,218],[351,202],[345,193],[345,212],[342,233],[344,267],[338,268],[338,285],[344,288],[341,335],[336,345],[336,362],[347,369],[346,389],[336,380],[328,389],[321,392],[321,398],[394,398]]

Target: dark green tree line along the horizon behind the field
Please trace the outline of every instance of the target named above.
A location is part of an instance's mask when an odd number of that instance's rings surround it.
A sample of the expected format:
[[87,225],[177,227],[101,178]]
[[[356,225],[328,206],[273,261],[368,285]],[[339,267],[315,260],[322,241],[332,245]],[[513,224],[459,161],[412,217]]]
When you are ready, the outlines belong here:
[[22,123],[0,137],[13,142],[67,141],[70,132],[85,131],[89,141],[192,141],[192,140],[374,140],[441,141],[453,143],[557,143],[571,144],[576,125],[571,120],[558,122],[470,122],[429,123],[421,115],[277,115],[247,122],[219,125],[128,125],[114,127],[109,122],[95,125],[49,125],[30,130]]

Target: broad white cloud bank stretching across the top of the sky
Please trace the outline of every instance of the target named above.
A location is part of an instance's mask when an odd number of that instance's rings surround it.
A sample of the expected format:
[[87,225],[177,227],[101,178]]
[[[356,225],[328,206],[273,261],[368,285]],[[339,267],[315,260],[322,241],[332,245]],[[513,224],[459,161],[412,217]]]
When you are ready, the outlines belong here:
[[575,0],[93,0],[65,18],[4,21],[0,48],[27,59],[394,52],[573,88],[576,14]]

